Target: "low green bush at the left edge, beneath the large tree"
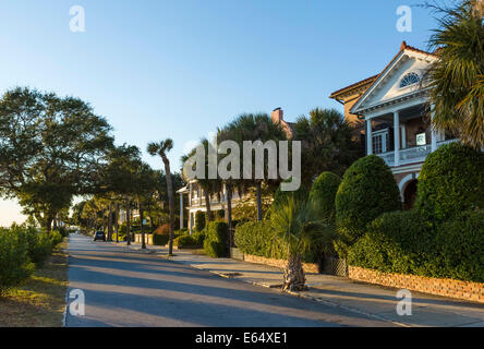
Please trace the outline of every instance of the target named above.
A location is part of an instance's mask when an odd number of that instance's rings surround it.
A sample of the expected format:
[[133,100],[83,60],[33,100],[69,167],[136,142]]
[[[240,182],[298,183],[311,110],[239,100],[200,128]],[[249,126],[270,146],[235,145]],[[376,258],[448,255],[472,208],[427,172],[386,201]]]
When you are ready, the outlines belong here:
[[0,296],[25,281],[34,269],[26,239],[14,230],[0,229]]

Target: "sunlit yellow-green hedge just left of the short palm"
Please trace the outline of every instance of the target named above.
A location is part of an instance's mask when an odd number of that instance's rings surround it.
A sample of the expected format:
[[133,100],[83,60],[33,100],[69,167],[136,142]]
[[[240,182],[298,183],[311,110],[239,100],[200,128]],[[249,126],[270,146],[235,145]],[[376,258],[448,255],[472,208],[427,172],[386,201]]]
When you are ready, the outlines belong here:
[[269,220],[249,221],[235,228],[235,245],[245,254],[286,260],[287,249],[275,239]]

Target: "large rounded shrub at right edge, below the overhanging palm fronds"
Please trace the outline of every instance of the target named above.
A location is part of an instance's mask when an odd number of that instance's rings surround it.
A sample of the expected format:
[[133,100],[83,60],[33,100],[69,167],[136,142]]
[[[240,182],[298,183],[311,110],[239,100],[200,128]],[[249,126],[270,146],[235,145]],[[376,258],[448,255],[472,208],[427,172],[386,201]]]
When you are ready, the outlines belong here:
[[437,220],[484,208],[484,154],[459,143],[427,156],[419,177],[415,206]]

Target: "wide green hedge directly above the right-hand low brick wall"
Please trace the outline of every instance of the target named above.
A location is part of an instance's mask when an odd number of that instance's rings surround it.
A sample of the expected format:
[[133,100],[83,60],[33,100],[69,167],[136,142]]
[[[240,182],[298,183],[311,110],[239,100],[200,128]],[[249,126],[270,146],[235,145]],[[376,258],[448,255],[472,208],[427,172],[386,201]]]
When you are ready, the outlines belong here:
[[348,263],[384,273],[484,281],[484,212],[467,212],[435,227],[413,209],[375,219]]

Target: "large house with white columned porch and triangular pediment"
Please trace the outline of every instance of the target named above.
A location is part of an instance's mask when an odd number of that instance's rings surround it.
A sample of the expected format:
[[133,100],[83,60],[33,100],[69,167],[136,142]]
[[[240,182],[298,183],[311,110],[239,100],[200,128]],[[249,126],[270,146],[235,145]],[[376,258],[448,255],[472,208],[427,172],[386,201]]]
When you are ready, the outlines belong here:
[[427,118],[428,89],[422,79],[437,59],[403,41],[380,74],[331,94],[344,104],[347,120],[360,125],[365,154],[376,154],[391,168],[407,208],[413,206],[427,155],[455,142],[451,134],[433,130]]

